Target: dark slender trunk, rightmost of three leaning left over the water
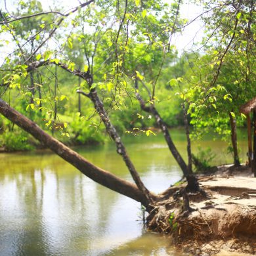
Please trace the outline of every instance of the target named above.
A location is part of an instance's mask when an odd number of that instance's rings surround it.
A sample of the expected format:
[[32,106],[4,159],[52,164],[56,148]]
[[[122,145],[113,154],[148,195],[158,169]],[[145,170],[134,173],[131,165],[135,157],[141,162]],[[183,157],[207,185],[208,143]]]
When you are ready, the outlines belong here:
[[168,131],[168,127],[167,127],[166,123],[163,121],[163,119],[161,118],[160,114],[158,113],[158,110],[156,110],[155,106],[152,104],[150,104],[150,106],[146,106],[144,100],[140,96],[137,79],[135,80],[135,89],[137,90],[135,92],[135,96],[137,97],[137,99],[140,102],[140,108],[142,110],[144,110],[145,112],[152,114],[155,117],[156,123],[158,123],[158,126],[160,127],[161,131],[163,132],[163,137],[165,138],[165,141],[167,142],[167,145],[169,147],[169,150],[171,151],[171,154],[173,154],[173,157],[175,158],[175,160],[181,167],[182,172],[183,172],[184,176],[186,177],[188,174],[190,174],[190,172],[188,171],[188,167],[187,167],[186,163],[184,162],[181,154],[179,154],[179,151],[177,150],[175,144],[173,143],[173,140],[171,139],[171,135],[169,134],[169,131]]

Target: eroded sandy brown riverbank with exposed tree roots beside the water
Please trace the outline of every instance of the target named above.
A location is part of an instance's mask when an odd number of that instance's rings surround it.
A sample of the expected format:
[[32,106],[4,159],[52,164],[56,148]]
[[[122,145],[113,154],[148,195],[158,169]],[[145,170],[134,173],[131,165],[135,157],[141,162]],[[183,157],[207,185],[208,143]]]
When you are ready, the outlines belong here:
[[188,255],[256,255],[256,178],[251,170],[226,165],[199,182],[210,198],[188,194],[192,211],[184,212],[182,197],[173,198],[184,185],[171,187],[148,216],[148,229],[171,234]]

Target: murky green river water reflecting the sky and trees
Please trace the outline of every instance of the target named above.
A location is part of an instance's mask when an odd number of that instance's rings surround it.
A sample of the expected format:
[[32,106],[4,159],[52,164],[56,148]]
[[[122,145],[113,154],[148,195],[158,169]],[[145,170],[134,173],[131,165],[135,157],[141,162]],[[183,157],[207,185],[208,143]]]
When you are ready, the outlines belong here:
[[[182,131],[173,131],[186,157]],[[127,137],[127,151],[142,181],[161,192],[181,171],[161,137]],[[211,136],[192,147],[211,146],[215,164],[232,161],[226,144]],[[240,141],[246,152],[245,140]],[[131,180],[112,143],[75,148],[96,165]],[[245,153],[242,155],[245,160]],[[44,150],[0,154],[0,255],[182,255],[169,238],[144,231],[140,204],[81,175]]]

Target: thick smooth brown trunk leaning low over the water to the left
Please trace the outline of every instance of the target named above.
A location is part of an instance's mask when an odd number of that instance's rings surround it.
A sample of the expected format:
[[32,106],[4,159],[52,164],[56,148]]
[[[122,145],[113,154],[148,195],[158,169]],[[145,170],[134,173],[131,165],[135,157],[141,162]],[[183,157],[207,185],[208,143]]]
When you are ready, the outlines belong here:
[[30,133],[35,139],[39,140],[45,146],[53,150],[58,156],[68,161],[74,167],[79,169],[81,173],[89,177],[95,182],[110,188],[118,192],[119,194],[123,194],[124,196],[128,196],[137,202],[142,203],[145,207],[149,206],[148,199],[144,196],[144,194],[137,188],[137,186],[131,182],[125,181],[116,177],[112,173],[108,171],[104,171],[99,167],[93,165],[93,163],[87,161],[85,158],[59,142],[58,140],[51,137],[51,135],[45,133],[39,126],[23,116],[11,106],[9,106],[4,100],[0,99],[0,113],[3,116],[7,117],[10,121],[21,127],[24,131]]

